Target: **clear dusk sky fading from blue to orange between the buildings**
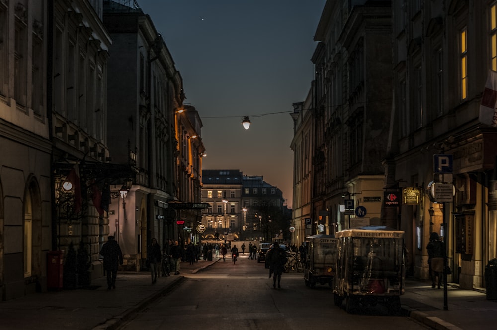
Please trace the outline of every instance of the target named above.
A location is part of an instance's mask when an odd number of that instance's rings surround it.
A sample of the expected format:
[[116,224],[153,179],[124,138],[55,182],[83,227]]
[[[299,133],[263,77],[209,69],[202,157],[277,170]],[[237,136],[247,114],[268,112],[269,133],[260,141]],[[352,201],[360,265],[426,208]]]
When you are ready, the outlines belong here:
[[181,73],[185,103],[202,119],[203,168],[263,176],[291,207],[290,112],[311,86],[326,0],[136,1]]

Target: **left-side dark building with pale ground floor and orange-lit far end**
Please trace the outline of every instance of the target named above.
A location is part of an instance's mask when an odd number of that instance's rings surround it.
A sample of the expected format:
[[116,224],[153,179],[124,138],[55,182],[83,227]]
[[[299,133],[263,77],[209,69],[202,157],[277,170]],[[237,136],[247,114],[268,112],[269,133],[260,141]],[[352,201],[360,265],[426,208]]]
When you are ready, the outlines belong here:
[[[113,162],[131,163],[136,179],[122,207],[119,199],[109,207],[109,233],[117,233],[126,268],[138,271],[152,238],[164,246],[167,239],[182,237],[176,220],[189,210],[175,207],[200,203],[205,149],[200,117],[183,106],[182,78],[162,36],[140,8],[119,2],[104,1],[103,21],[112,37],[108,140]],[[190,227],[200,219],[186,218]]]

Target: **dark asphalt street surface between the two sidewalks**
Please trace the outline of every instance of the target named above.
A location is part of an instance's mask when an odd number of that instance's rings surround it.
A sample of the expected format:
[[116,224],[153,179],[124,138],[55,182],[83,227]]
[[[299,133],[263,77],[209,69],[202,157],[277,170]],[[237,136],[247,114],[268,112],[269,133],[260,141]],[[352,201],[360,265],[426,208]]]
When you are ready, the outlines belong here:
[[[284,273],[273,289],[264,263],[240,254],[188,279],[137,313],[119,329],[431,329],[414,319],[389,315],[383,306],[348,314],[333,304],[331,287],[305,286],[303,273]],[[402,297],[401,297],[402,302]]]

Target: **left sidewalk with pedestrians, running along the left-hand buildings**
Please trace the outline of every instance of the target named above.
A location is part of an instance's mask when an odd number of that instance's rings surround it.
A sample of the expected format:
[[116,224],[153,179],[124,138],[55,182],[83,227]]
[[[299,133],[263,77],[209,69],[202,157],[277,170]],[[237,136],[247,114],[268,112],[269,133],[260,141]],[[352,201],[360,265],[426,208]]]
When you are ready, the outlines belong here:
[[50,291],[0,302],[0,328],[117,329],[132,313],[183,281],[183,274],[196,273],[216,261],[182,262],[180,275],[160,277],[154,285],[150,272],[120,271],[114,290],[108,291],[106,277],[100,277],[89,289]]

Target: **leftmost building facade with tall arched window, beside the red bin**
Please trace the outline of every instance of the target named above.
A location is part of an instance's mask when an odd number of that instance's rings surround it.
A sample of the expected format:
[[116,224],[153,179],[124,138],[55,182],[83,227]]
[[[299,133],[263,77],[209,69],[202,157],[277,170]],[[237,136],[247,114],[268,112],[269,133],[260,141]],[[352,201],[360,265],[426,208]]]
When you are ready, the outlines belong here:
[[0,300],[47,288],[49,19],[46,1],[0,1]]

